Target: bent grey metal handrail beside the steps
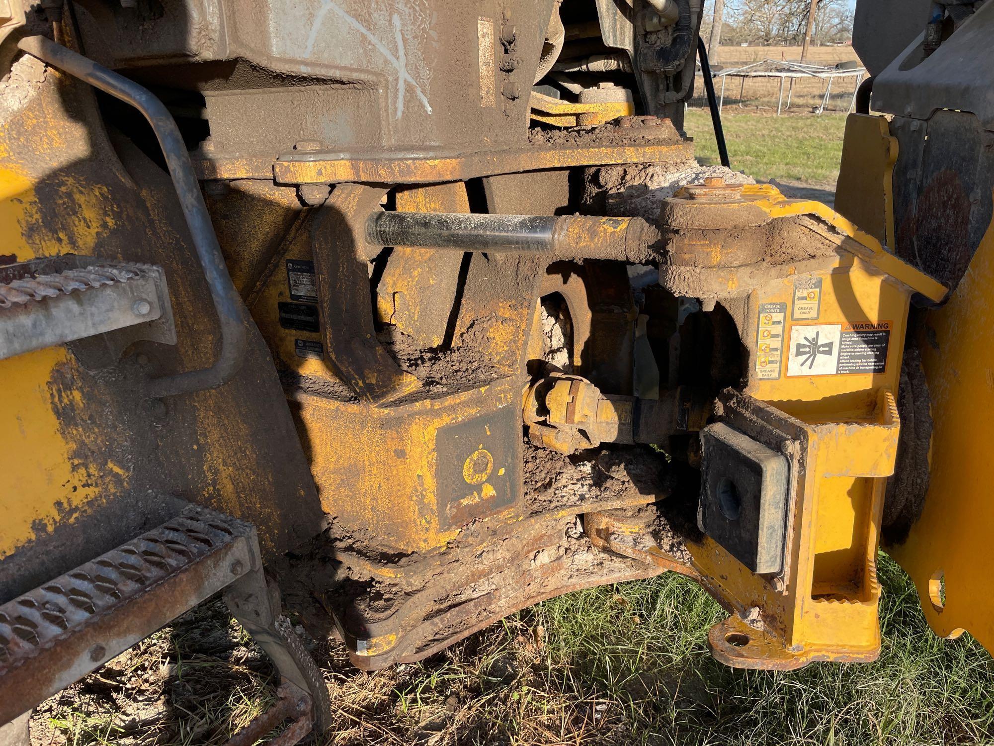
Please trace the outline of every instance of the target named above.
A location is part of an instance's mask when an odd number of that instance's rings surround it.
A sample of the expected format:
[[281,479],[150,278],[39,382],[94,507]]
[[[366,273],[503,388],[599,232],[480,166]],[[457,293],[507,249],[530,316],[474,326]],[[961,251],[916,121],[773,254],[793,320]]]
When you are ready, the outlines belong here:
[[137,108],[152,125],[152,130],[162,148],[162,154],[165,156],[166,166],[169,168],[169,175],[172,177],[183,210],[183,217],[187,228],[190,229],[197,257],[211,288],[211,300],[214,301],[214,308],[221,321],[221,354],[210,368],[186,371],[148,381],[145,394],[150,398],[159,399],[214,389],[227,383],[242,367],[248,344],[248,331],[242,313],[242,297],[228,274],[228,266],[218,245],[218,237],[214,233],[207,205],[204,204],[204,196],[201,194],[200,184],[190,162],[190,154],[172,114],[166,109],[165,104],[147,89],[45,37],[26,37],[18,43],[18,47],[47,65],[59,68],[93,88],[109,93]]

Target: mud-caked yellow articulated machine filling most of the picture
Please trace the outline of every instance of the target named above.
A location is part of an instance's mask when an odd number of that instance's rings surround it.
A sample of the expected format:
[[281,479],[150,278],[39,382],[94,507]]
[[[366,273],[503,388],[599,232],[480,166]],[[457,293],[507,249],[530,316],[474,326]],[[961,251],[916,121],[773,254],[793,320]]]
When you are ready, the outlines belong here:
[[11,742],[219,593],[237,743],[327,727],[298,625],[663,572],[731,666],[872,664],[881,547],[994,648],[994,2],[859,4],[834,208],[727,167],[702,6],[0,0]]

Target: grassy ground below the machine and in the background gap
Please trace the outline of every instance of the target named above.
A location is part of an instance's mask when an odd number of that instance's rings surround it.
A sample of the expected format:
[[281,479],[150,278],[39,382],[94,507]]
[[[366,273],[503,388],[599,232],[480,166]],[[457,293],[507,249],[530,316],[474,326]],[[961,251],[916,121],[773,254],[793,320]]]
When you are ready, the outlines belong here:
[[[833,48],[836,49],[836,48]],[[844,117],[729,115],[733,166],[830,190]],[[701,158],[711,121],[691,110]],[[335,727],[352,744],[994,743],[994,662],[969,635],[936,639],[881,556],[884,648],[873,664],[727,668],[705,648],[721,608],[672,574],[514,614],[414,665],[351,667],[315,645]],[[47,702],[38,744],[220,744],[266,706],[271,668],[208,603]]]

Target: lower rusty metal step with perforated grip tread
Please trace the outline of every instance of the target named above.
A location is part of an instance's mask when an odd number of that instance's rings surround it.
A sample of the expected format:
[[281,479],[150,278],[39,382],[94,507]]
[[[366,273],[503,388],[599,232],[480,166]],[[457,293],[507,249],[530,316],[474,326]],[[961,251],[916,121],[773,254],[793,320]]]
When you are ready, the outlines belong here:
[[189,506],[0,606],[0,723],[258,570],[254,527]]

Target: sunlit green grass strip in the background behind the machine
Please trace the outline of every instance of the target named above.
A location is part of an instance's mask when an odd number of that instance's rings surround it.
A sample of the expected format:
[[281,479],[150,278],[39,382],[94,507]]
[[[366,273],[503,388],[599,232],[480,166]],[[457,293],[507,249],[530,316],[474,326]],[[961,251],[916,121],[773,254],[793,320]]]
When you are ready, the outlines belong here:
[[[722,122],[729,160],[737,171],[745,171],[758,181],[777,179],[835,188],[845,114],[771,116],[740,113],[726,106]],[[684,126],[694,138],[697,159],[718,163],[711,113],[688,109]]]

